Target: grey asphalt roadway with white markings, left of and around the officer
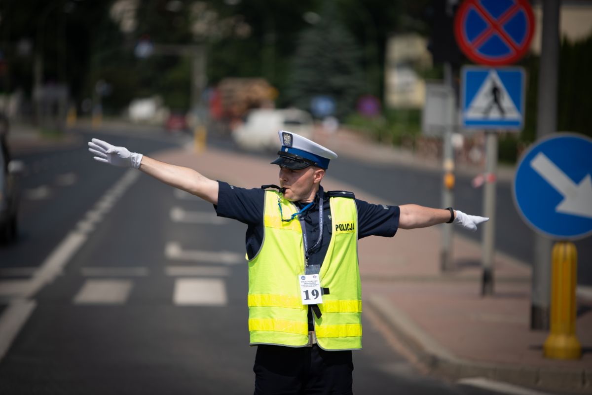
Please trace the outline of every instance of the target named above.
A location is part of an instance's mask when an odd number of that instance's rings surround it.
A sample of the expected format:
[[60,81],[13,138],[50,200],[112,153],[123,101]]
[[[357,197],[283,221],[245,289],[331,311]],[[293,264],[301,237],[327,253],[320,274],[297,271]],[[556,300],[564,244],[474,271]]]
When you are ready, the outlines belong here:
[[[93,136],[146,154],[182,143]],[[95,163],[85,147],[21,158],[31,169],[22,178],[21,237],[0,246],[0,280],[27,283],[72,232],[84,238],[34,294],[33,313],[0,361],[0,393],[252,393],[244,225],[218,222],[211,205],[139,172]],[[375,184],[378,173],[359,177],[348,166],[334,176],[368,182],[374,193],[387,188],[384,175]],[[376,322],[366,316],[363,325],[355,393],[496,393],[418,373],[385,347]]]

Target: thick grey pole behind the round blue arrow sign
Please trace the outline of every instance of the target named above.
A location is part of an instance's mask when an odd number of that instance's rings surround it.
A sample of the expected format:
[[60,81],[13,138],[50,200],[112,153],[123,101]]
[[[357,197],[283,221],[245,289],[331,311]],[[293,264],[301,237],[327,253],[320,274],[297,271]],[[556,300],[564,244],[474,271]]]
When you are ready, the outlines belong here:
[[[536,137],[556,132],[559,59],[559,0],[543,0],[542,45],[540,54],[539,98]],[[535,235],[535,262],[532,267],[530,329],[549,329],[551,300],[552,241]]]

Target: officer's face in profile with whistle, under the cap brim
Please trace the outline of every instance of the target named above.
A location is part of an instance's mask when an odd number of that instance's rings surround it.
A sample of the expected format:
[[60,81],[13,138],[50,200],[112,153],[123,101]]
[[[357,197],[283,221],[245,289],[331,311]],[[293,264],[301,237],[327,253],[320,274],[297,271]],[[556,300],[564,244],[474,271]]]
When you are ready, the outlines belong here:
[[312,201],[317,193],[318,184],[324,176],[324,170],[308,166],[300,170],[279,167],[279,186],[284,187],[284,198],[291,202]]

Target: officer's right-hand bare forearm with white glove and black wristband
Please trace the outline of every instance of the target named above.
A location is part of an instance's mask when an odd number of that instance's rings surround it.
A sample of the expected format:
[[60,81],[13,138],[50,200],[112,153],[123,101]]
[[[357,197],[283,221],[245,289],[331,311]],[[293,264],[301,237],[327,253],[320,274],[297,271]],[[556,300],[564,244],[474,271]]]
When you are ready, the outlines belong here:
[[[448,209],[433,209],[419,205],[399,206],[399,228],[415,229],[426,228],[427,226],[445,224],[450,221],[451,213]],[[454,224],[461,225],[463,228],[477,230],[477,225],[481,222],[489,221],[489,218],[468,215],[460,210],[453,210]]]

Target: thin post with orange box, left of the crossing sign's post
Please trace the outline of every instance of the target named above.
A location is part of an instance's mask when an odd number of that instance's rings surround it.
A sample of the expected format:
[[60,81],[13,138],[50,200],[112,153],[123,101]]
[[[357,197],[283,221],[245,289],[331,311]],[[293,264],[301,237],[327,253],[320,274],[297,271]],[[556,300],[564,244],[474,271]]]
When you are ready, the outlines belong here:
[[[452,79],[452,65],[447,62],[444,64],[444,82],[446,85],[451,87],[452,92],[454,92],[453,87],[453,79]],[[449,108],[448,114],[451,116],[451,122],[448,122],[448,125],[445,127],[445,132],[443,135],[443,150],[442,150],[442,157],[443,157],[443,180],[442,180],[442,207],[452,207],[453,206],[453,187],[454,187],[454,153],[452,151],[452,128],[453,123],[455,122],[455,100],[454,94],[452,94],[452,98],[448,101]],[[453,227],[446,225],[442,226],[442,243],[440,251],[440,270],[442,271],[449,271],[454,268],[454,263],[452,261],[452,235],[453,235]]]

